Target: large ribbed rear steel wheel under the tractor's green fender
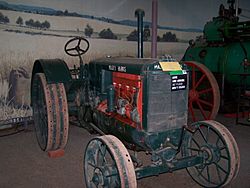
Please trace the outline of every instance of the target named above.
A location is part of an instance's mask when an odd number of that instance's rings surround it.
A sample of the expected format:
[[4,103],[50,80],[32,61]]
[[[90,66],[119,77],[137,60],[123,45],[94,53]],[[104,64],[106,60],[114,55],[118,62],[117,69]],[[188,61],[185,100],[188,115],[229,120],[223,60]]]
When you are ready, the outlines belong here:
[[68,140],[68,105],[62,83],[47,84],[43,73],[32,82],[32,107],[37,141],[44,151],[63,149]]

